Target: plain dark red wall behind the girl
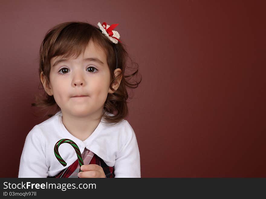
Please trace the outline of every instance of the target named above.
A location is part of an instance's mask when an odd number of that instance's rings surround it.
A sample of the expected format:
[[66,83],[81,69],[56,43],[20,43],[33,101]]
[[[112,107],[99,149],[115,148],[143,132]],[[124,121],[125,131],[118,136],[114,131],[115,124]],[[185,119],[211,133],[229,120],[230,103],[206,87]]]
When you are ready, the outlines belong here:
[[38,50],[66,21],[119,23],[138,62],[129,100],[141,177],[266,177],[263,1],[1,1],[1,169],[34,125]]

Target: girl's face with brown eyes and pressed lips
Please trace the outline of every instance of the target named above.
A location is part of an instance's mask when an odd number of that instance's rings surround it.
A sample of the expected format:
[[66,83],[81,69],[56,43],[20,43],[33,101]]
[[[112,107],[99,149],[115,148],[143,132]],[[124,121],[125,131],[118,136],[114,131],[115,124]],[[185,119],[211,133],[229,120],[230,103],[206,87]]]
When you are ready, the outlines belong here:
[[[51,59],[50,93],[62,112],[76,117],[102,113],[110,86],[105,52],[89,41],[84,54],[62,62]],[[83,95],[85,97],[76,97]]]

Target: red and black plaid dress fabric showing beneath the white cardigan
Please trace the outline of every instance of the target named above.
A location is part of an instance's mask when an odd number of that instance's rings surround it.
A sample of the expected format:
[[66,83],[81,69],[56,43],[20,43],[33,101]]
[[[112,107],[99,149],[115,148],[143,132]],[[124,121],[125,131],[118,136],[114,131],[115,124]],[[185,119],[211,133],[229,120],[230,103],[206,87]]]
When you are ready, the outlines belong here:
[[[98,164],[99,166],[102,167],[105,176],[106,177],[115,177],[114,176],[114,167],[109,167],[107,164],[105,164],[105,162],[99,158],[96,154],[93,155],[91,161],[89,162],[89,164]],[[77,167],[79,167],[79,162],[78,160],[76,160],[73,164],[71,164],[69,167],[65,168],[64,170],[60,171],[59,174],[52,176],[52,177],[56,177],[56,178],[60,178],[60,177],[78,177],[77,176],[77,172],[75,173],[74,171],[76,171]],[[48,176],[50,177],[50,176]]]

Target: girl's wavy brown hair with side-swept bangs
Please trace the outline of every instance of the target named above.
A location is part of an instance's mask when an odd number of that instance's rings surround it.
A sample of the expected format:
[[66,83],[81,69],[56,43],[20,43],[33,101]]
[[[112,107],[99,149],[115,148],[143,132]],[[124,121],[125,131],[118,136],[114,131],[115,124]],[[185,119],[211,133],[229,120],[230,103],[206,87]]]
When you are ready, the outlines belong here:
[[[107,64],[110,69],[111,83],[110,89],[115,91],[114,93],[108,93],[104,110],[114,114],[113,116],[102,114],[102,117],[108,123],[118,123],[128,115],[127,99],[128,99],[128,88],[137,88],[140,81],[131,83],[134,76],[138,74],[138,64],[133,62],[129,57],[125,46],[118,42],[118,44],[112,43],[102,31],[94,25],[87,22],[65,22],[51,28],[45,35],[40,47],[40,59],[39,59],[39,77],[41,72],[44,73],[47,85],[50,82],[50,60],[56,56],[62,56],[63,58],[77,58],[82,52],[85,51],[90,39],[96,42],[98,46],[105,51],[107,57]],[[114,70],[116,68],[115,49],[117,52],[117,64],[118,68],[122,72],[115,77]],[[130,60],[130,61],[129,61]],[[131,65],[137,66],[136,70],[130,74],[125,75],[125,69],[130,68],[128,62]],[[132,70],[131,70],[132,71]],[[116,78],[121,77],[122,79],[117,90],[112,88],[113,82]],[[44,91],[44,87],[41,83],[41,88]],[[60,107],[57,105],[54,96],[48,95],[45,91],[44,94],[35,96],[35,103],[31,104],[35,107],[41,107],[42,110],[47,111],[50,107],[56,105],[56,111],[60,111]],[[47,111],[48,112],[48,111]],[[116,114],[115,114],[116,113]],[[54,114],[48,114],[48,117],[52,117]],[[45,115],[44,115],[45,116]]]

